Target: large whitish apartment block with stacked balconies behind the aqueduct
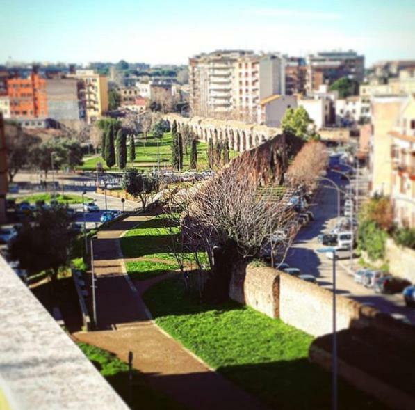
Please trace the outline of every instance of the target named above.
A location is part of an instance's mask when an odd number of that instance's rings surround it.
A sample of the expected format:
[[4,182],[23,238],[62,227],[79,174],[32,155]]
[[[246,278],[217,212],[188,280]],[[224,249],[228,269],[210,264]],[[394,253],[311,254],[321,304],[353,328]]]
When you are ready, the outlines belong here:
[[261,100],[285,93],[284,58],[245,50],[217,51],[189,59],[193,115],[257,122]]

